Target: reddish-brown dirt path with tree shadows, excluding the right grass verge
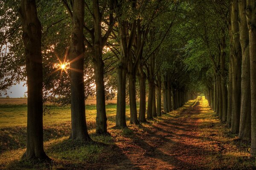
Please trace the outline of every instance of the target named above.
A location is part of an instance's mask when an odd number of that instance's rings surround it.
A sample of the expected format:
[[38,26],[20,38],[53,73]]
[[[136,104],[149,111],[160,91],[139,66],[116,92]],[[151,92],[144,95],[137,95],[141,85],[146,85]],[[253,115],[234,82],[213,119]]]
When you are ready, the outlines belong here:
[[204,156],[208,153],[201,146],[198,130],[205,102],[205,99],[193,100],[175,115],[169,113],[163,121],[153,124],[149,134],[134,136],[122,148],[120,161],[110,164],[108,169],[207,169]]

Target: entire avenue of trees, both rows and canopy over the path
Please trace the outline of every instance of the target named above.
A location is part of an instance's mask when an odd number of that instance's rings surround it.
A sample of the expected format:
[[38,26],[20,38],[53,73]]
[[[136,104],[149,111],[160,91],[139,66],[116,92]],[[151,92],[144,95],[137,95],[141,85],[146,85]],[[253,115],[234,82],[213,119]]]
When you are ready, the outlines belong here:
[[3,0],[0,9],[0,90],[28,87],[24,159],[49,159],[44,102],[70,105],[70,139],[90,141],[84,100],[96,96],[96,133],[107,134],[115,94],[123,128],[127,102],[138,125],[204,93],[256,156],[255,0]]

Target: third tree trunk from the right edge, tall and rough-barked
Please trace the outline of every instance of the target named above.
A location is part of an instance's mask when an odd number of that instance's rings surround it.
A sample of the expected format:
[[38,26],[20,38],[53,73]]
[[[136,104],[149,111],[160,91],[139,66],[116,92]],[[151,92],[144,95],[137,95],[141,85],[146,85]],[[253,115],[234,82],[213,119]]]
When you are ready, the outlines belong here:
[[241,106],[241,46],[239,42],[238,0],[231,1],[231,40],[232,62],[232,116],[231,132],[239,133]]

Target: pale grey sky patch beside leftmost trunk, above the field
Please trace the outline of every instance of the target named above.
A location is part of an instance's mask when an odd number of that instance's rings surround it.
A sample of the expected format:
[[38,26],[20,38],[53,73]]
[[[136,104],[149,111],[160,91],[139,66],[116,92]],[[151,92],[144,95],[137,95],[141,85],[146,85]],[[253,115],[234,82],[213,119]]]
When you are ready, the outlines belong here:
[[[20,82],[20,84],[13,85],[8,91],[7,95],[3,95],[3,92],[1,92],[1,97],[9,96],[10,98],[19,98],[24,97],[24,94],[27,91],[26,85],[23,86],[25,82]],[[27,94],[26,94],[27,96]]]

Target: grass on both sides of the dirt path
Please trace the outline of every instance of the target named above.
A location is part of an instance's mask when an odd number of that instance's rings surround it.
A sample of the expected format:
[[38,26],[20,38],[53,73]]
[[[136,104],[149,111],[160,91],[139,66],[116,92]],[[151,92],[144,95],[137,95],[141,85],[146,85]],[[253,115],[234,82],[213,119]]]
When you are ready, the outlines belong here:
[[[34,164],[20,161],[26,150],[26,105],[0,105],[0,169],[43,170],[43,169],[101,169],[116,159],[116,153],[124,152],[125,146],[138,135],[150,135],[155,125],[166,119],[177,119],[180,112],[195,105],[196,100],[187,102],[182,108],[157,117],[141,126],[129,125],[129,107],[126,108],[128,128],[115,128],[116,105],[106,105],[108,132],[110,135],[95,134],[96,105],[86,105],[87,127],[94,142],[72,141],[70,135],[70,107],[51,106],[50,114],[44,116],[44,148],[52,163]],[[189,116],[189,115],[182,115]],[[250,157],[249,141],[241,141],[229,132],[215,113],[203,100],[198,130],[201,145],[207,150],[205,160],[209,169],[252,169],[256,159]]]

